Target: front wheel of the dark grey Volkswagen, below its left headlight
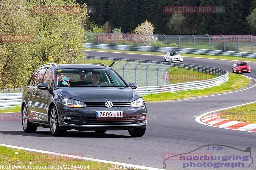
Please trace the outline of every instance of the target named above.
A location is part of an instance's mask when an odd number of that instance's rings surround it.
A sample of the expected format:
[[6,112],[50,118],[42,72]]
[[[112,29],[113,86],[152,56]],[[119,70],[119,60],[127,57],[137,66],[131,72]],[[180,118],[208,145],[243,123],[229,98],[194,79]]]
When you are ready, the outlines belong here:
[[67,129],[60,129],[60,126],[58,123],[59,118],[58,118],[58,114],[55,106],[52,106],[49,118],[50,118],[49,119],[50,131],[52,136],[55,136],[55,137],[64,136],[67,133]]

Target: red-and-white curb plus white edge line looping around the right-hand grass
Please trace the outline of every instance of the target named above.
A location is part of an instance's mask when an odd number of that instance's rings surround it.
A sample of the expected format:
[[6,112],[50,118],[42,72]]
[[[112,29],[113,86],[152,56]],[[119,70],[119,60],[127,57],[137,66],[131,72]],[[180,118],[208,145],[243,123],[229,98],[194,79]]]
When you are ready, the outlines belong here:
[[230,121],[227,119],[220,118],[217,114],[217,112],[219,112],[221,110],[226,110],[226,109],[230,109],[233,107],[244,106],[244,105],[252,104],[252,103],[256,103],[256,101],[251,102],[251,103],[245,103],[242,105],[227,107],[227,108],[223,108],[223,109],[219,109],[219,110],[214,110],[212,112],[207,112],[207,113],[204,113],[203,115],[197,116],[195,120],[196,120],[196,122],[207,125],[207,126],[255,133],[256,132],[256,123]]

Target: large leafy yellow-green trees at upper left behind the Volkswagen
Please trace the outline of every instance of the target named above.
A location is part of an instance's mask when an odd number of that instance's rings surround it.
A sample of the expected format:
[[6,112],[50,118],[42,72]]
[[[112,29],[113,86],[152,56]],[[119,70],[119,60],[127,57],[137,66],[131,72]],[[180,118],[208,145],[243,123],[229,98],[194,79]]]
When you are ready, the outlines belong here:
[[[49,62],[83,62],[86,5],[75,0],[6,0],[0,3],[0,85],[26,85],[39,65]],[[67,6],[63,13],[35,12],[45,7]],[[72,12],[69,7],[81,9]],[[80,8],[81,7],[81,8]],[[75,8],[73,8],[75,9]],[[34,10],[34,11],[33,11]],[[31,41],[6,41],[9,35],[31,36]]]

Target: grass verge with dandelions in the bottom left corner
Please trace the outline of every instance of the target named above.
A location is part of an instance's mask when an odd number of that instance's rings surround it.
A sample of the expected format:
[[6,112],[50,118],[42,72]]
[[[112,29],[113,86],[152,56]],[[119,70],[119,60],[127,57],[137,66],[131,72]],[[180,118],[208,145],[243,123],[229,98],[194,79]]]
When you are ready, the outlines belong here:
[[[15,154],[17,152],[18,154]],[[77,150],[76,152],[79,152]],[[71,153],[67,153],[71,154]],[[81,156],[81,153],[72,153],[74,156]],[[85,157],[86,155],[84,155]],[[63,166],[66,165],[66,168],[71,169],[71,166],[73,165],[72,169],[75,169],[75,165],[86,165],[86,168],[82,169],[110,169],[111,164],[106,164],[106,163],[100,163],[100,162],[94,162],[94,161],[84,161],[84,160],[75,160],[72,158],[67,158],[64,156],[59,156],[59,157],[51,157],[50,155],[48,156],[47,154],[41,154],[41,153],[34,153],[34,152],[28,152],[24,150],[19,150],[19,149],[13,149],[13,148],[8,148],[4,146],[0,146],[0,165],[6,165],[6,166],[11,166],[16,165],[16,166],[55,166],[55,168],[52,169],[61,169],[57,168],[57,166]],[[11,169],[9,168],[9,169]],[[7,168],[1,168],[0,169],[7,169]],[[21,169],[16,168],[16,169]],[[25,169],[25,168],[23,168]],[[28,167],[27,167],[28,169]],[[33,169],[43,169],[43,168],[33,168]],[[47,169],[47,168],[46,168]],[[49,168],[48,168],[49,169]],[[81,169],[81,168],[76,168],[76,169]]]

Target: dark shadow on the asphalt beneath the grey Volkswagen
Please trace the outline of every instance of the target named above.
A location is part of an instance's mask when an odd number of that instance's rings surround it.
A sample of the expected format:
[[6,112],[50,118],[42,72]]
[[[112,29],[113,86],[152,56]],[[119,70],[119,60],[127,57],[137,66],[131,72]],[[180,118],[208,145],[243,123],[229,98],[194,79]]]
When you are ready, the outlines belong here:
[[[25,133],[24,131],[0,131],[0,134],[19,135],[19,136],[28,136],[28,137],[53,137],[49,131],[37,131],[36,133]],[[108,132],[95,133],[95,132],[86,132],[86,131],[68,131],[67,134],[63,137],[130,138],[131,136],[108,134]]]

